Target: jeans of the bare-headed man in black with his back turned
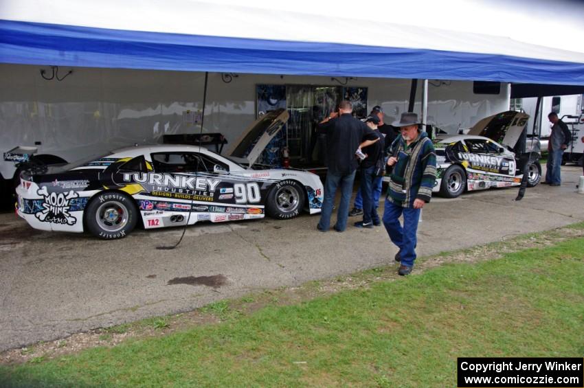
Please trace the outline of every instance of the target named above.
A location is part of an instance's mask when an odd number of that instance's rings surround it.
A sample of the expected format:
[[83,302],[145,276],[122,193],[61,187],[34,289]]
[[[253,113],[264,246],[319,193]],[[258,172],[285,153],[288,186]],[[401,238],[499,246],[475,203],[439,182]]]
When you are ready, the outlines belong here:
[[328,171],[326,173],[326,183],[324,183],[324,201],[320,212],[318,226],[321,230],[328,230],[330,227],[330,215],[333,214],[333,204],[337,187],[341,188],[341,203],[337,211],[337,231],[344,231],[347,227],[347,218],[349,217],[349,203],[353,191],[353,182],[355,181],[355,171],[350,174],[335,174]]

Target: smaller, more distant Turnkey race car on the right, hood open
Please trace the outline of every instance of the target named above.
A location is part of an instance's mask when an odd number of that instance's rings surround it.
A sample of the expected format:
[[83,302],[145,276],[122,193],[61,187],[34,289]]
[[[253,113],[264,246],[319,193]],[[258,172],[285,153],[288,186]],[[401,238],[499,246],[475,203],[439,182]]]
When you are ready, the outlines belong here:
[[528,118],[525,113],[507,111],[482,119],[467,135],[436,137],[433,192],[456,198],[464,190],[517,186],[524,171],[528,173],[527,186],[537,185],[541,179],[539,147],[513,152],[521,143]]

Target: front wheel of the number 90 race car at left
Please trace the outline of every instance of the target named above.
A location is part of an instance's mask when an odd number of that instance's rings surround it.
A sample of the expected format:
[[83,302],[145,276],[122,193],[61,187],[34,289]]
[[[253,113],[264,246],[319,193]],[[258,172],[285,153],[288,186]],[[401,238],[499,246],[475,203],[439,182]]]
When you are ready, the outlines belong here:
[[304,189],[297,182],[280,181],[268,193],[266,213],[279,220],[294,218],[304,207],[304,195]]

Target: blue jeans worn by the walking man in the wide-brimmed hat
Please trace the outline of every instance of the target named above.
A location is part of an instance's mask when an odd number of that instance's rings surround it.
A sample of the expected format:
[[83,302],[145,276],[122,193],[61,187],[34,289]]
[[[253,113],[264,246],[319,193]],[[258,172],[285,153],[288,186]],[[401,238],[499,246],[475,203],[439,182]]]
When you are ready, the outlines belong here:
[[[403,227],[398,220],[401,214],[403,214]],[[401,250],[401,265],[414,266],[419,220],[420,209],[401,207],[387,199],[385,200],[383,225],[385,225],[392,242]]]

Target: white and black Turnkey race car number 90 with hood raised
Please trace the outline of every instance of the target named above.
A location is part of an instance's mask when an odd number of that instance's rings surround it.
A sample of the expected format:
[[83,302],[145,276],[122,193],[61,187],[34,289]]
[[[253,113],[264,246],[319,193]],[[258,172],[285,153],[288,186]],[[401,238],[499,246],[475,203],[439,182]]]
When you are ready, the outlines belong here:
[[65,166],[25,170],[16,212],[35,229],[123,238],[144,228],[263,218],[293,218],[322,207],[319,176],[254,162],[287,121],[268,113],[247,130],[229,157],[199,146],[123,148]]

